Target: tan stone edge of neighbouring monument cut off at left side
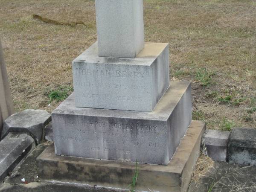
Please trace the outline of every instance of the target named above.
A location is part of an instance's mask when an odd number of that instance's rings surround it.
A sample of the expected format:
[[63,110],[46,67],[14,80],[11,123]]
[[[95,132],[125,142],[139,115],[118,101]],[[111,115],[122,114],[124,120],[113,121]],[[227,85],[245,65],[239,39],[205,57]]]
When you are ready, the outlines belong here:
[[6,71],[6,65],[3,59],[3,49],[0,41],[0,139],[3,128],[3,121],[14,113],[12,104],[11,90]]

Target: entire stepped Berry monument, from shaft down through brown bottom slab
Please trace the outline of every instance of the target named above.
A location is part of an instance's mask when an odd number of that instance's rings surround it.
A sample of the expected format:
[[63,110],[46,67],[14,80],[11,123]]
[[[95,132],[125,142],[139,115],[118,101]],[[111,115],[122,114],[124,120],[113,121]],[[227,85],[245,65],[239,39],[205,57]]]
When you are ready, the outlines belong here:
[[143,0],[95,4],[98,41],[73,61],[74,93],[52,112],[55,154],[38,157],[40,178],[122,188],[137,161],[150,178],[141,190],[157,174],[151,189],[185,191],[205,128],[192,122],[191,84],[169,82],[168,44],[144,43]]

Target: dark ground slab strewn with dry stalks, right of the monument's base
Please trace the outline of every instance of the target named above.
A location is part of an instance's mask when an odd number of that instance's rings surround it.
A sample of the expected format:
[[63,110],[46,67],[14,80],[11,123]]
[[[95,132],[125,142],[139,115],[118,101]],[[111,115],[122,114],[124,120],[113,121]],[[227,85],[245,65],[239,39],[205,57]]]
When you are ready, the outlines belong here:
[[255,173],[256,166],[214,161],[198,182],[191,181],[188,192],[256,192]]

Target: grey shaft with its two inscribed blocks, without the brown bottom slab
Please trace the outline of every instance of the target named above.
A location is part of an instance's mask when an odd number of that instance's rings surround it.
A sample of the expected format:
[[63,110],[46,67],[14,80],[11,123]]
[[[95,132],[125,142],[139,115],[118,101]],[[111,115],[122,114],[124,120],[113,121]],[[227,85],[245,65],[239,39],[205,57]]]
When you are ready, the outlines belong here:
[[52,113],[56,154],[170,162],[191,123],[191,85],[169,83],[168,44],[144,46],[142,8],[96,0],[98,42],[73,61],[74,93]]

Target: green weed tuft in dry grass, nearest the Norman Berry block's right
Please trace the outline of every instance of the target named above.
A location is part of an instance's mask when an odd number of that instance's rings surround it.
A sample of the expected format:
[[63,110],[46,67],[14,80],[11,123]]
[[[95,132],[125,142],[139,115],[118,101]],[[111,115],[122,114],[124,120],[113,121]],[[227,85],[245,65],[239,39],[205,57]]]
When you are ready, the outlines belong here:
[[215,75],[215,72],[208,71],[207,69],[198,69],[195,73],[195,79],[200,81],[202,86],[209,86],[212,83],[212,76]]

